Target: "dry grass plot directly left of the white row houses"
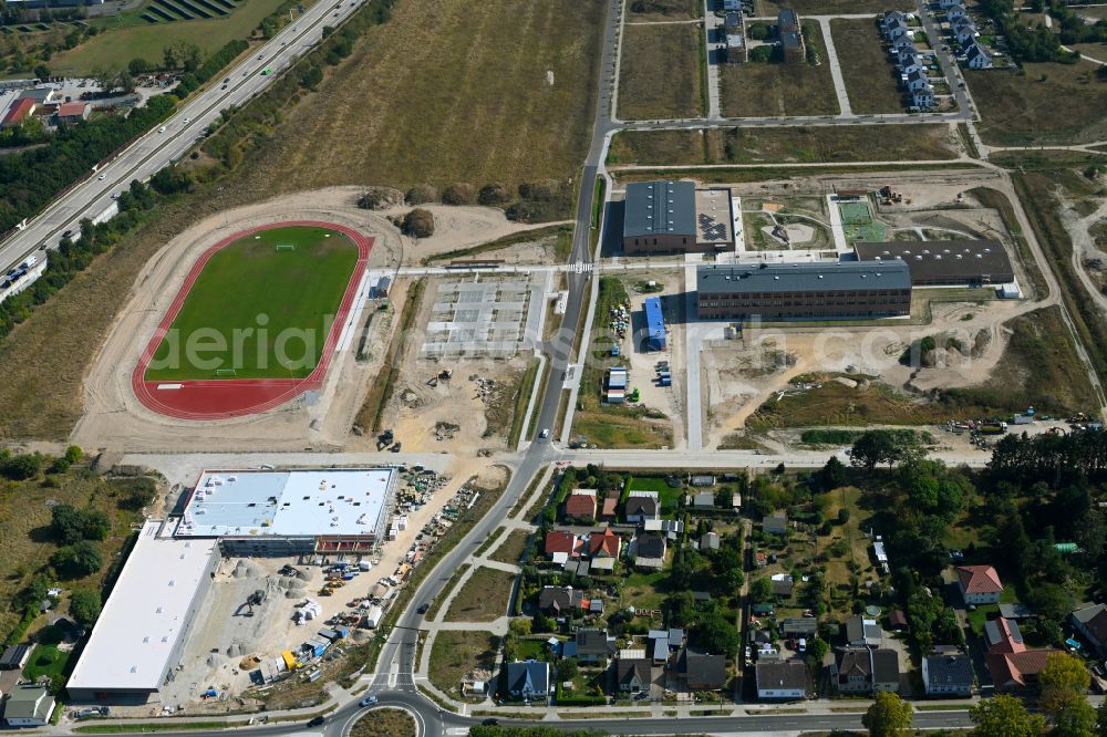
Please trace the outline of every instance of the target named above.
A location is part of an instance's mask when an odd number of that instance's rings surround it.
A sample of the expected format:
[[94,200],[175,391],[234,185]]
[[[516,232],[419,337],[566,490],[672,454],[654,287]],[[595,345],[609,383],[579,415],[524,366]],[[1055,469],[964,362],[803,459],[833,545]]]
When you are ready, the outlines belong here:
[[835,49],[855,113],[902,113],[903,92],[886,53],[875,20],[839,18],[830,21]]

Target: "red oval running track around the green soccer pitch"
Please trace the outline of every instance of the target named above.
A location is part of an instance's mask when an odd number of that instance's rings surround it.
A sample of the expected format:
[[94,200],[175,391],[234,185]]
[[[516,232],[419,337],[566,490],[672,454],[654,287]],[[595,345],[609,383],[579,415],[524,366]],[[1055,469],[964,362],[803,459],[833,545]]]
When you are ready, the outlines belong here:
[[[358,263],[354,266],[353,273],[350,274],[350,280],[346,282],[345,292],[342,295],[342,302],[339,304],[338,312],[334,315],[334,322],[331,323],[331,330],[327,335],[327,343],[323,345],[323,353],[320,356],[319,364],[315,366],[314,371],[303,378],[205,378],[182,382],[146,381],[146,367],[154,357],[154,353],[157,351],[157,347],[162,344],[162,340],[169,331],[169,325],[172,325],[173,321],[176,320],[177,313],[180,312],[180,307],[185,302],[185,298],[188,297],[189,290],[192,290],[193,284],[196,282],[196,279],[199,277],[200,271],[204,270],[204,266],[208,262],[208,260],[219,249],[232,243],[236,240],[245,238],[246,236],[251,236],[260,230],[297,226],[334,230],[349,236],[354,245],[358,246]],[[146,350],[138,360],[138,365],[135,366],[134,372],[131,374],[131,388],[134,391],[135,396],[147,409],[152,409],[161,415],[176,417],[178,419],[229,419],[231,417],[244,417],[246,415],[252,415],[259,412],[266,412],[267,409],[272,409],[273,407],[278,407],[286,402],[298,397],[309,390],[319,388],[323,384],[323,376],[327,374],[327,367],[330,365],[331,359],[334,355],[334,346],[338,344],[339,336],[342,334],[342,328],[345,325],[346,316],[353,308],[358,286],[361,283],[362,276],[365,273],[365,264],[369,261],[369,252],[373,248],[374,240],[374,238],[363,236],[352,228],[334,225],[333,222],[320,222],[315,220],[271,222],[257,228],[250,228],[249,230],[242,230],[224,238],[218,243],[204,251],[204,253],[196,260],[196,263],[193,264],[192,270],[189,270],[188,276],[185,278],[185,283],[180,286],[180,290],[174,298],[173,304],[169,305],[169,309],[166,311],[161,324],[158,324],[157,330],[154,331],[153,338],[149,339]],[[179,385],[179,388],[157,388],[158,385],[167,384]]]

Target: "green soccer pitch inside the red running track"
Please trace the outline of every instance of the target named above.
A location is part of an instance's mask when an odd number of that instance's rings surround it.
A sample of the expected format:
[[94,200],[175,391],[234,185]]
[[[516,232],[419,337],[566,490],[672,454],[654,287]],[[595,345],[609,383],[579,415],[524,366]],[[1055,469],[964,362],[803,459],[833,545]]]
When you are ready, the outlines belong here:
[[146,381],[308,376],[356,262],[356,245],[324,228],[275,228],[227,245],[185,295]]

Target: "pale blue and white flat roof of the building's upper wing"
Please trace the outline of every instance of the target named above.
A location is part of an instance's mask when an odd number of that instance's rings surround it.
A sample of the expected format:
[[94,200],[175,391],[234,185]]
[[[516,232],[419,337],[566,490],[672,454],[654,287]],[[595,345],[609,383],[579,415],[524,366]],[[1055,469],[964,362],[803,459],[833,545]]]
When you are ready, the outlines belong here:
[[204,471],[177,537],[371,536],[394,468]]

